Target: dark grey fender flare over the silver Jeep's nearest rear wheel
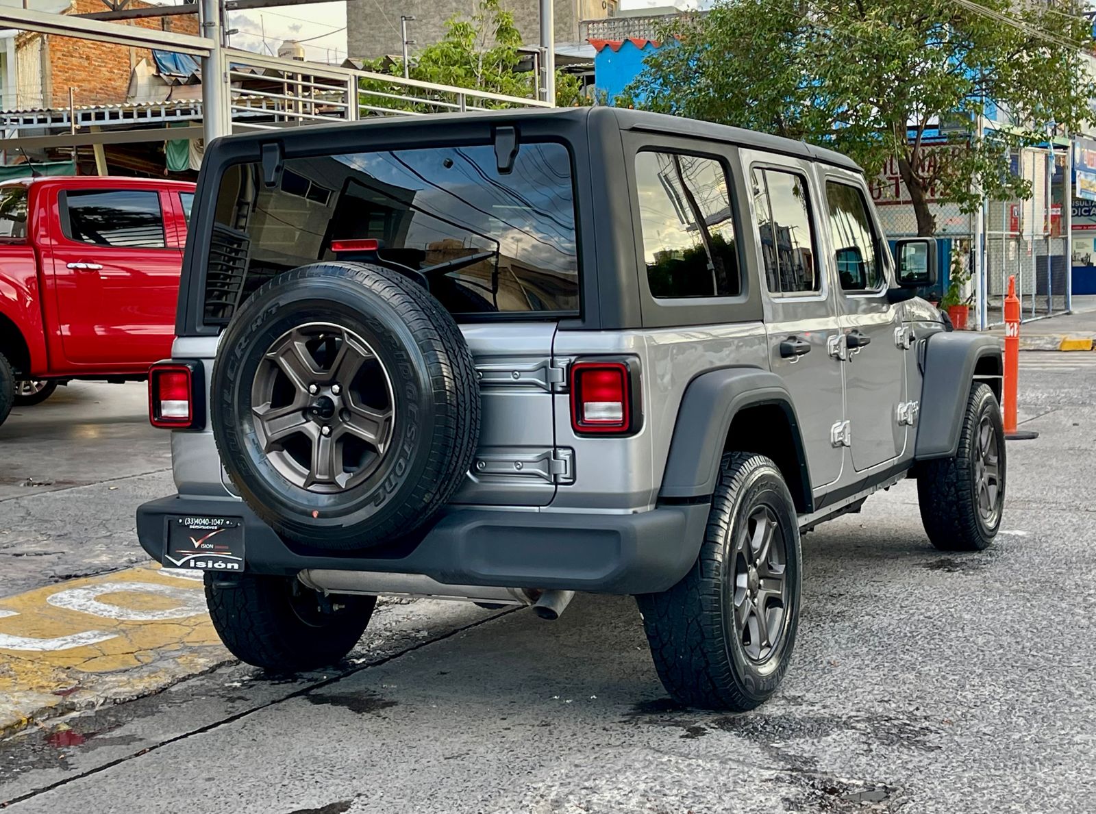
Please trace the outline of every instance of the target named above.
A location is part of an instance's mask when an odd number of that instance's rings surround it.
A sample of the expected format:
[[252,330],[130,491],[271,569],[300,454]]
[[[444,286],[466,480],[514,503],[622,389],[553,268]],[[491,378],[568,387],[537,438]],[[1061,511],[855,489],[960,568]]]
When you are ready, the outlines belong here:
[[719,480],[719,462],[731,422],[740,411],[763,404],[778,406],[788,421],[808,504],[806,511],[813,511],[807,450],[791,393],[779,376],[755,367],[709,370],[689,382],[677,410],[659,497],[687,500],[711,495]]

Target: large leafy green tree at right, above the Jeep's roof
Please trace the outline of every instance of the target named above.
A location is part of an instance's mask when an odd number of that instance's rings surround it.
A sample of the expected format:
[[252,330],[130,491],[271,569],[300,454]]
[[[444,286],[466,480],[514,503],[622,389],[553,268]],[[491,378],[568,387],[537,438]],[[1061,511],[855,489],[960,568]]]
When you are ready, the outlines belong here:
[[[931,192],[966,213],[1028,197],[1011,153],[1074,131],[1096,96],[1072,0],[721,0],[661,36],[617,104],[832,147],[869,177],[893,159],[923,236]],[[958,126],[933,149],[941,122]]]

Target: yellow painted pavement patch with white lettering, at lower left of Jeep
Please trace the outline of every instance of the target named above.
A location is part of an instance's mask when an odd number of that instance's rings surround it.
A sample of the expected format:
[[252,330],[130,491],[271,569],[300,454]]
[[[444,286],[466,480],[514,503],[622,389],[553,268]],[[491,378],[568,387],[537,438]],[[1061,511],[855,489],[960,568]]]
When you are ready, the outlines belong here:
[[202,583],[149,563],[0,599],[0,735],[231,661]]

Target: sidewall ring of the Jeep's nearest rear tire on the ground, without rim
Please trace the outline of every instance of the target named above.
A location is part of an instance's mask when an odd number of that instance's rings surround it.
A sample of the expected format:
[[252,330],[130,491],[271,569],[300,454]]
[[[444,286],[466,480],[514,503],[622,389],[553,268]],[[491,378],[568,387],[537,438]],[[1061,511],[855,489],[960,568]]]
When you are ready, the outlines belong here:
[[[734,605],[732,599],[734,580],[734,541],[750,515],[761,505],[768,506],[776,516],[784,536],[786,580],[788,583],[788,607],[785,609],[780,641],[764,662],[749,658],[734,627]],[[768,698],[779,686],[788,669],[790,654],[795,649],[799,628],[800,586],[802,582],[799,544],[799,529],[791,495],[773,465],[757,467],[750,472],[739,491],[733,506],[733,523],[723,542],[723,629],[727,654],[734,664],[734,673],[741,680],[743,692],[758,701]]]

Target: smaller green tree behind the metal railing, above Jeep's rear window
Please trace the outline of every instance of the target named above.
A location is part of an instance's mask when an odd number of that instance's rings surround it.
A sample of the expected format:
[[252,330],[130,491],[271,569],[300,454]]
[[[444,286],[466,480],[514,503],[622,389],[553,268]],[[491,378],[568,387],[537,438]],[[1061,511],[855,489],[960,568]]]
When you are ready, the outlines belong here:
[[[454,16],[446,23],[445,36],[420,51],[411,61],[409,74],[411,79],[423,82],[529,98],[535,90],[534,77],[529,71],[517,70],[522,60],[521,47],[522,34],[514,25],[513,12],[503,9],[499,0],[480,0],[470,19]],[[378,59],[365,67],[379,73],[403,74],[402,60],[386,62]],[[402,92],[399,87],[380,80],[363,80],[361,87],[385,93]],[[368,104],[390,110],[429,106],[400,100],[386,101],[384,98],[369,98]],[[505,103],[488,104],[507,106]],[[556,72],[556,104],[560,107],[590,104],[578,77]]]

